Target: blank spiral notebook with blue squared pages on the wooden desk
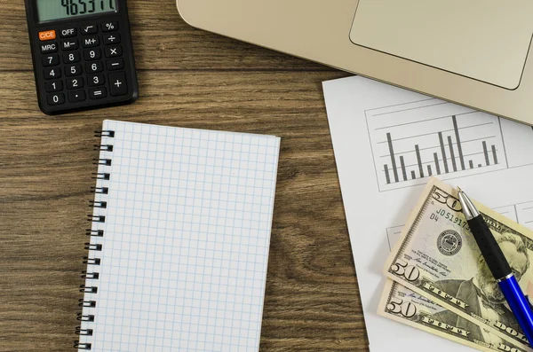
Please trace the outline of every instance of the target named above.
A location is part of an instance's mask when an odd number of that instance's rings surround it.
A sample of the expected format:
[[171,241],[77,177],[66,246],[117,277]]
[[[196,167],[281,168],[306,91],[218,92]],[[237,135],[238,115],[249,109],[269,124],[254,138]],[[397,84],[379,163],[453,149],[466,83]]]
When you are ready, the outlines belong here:
[[259,350],[278,137],[104,121],[76,348]]

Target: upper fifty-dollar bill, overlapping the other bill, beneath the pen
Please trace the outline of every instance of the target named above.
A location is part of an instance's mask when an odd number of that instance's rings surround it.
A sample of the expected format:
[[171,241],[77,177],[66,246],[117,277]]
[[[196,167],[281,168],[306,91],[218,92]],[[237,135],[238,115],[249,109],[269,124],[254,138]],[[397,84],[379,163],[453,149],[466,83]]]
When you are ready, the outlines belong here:
[[[532,286],[533,233],[497,212],[475,204],[510,263],[522,290]],[[386,276],[457,316],[443,323],[471,332],[478,340],[490,333],[533,351],[506,305],[462,214],[457,192],[432,178],[403,229],[385,266]]]

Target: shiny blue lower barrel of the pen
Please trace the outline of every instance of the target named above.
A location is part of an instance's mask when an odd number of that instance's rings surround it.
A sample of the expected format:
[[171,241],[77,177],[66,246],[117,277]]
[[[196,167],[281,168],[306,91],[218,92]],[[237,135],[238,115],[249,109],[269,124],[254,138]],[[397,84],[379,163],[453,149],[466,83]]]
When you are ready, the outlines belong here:
[[505,278],[498,285],[504,293],[509,307],[513,310],[514,317],[516,317],[524,335],[528,338],[529,344],[533,346],[533,311],[531,311],[528,300],[518,286],[516,278],[514,276]]

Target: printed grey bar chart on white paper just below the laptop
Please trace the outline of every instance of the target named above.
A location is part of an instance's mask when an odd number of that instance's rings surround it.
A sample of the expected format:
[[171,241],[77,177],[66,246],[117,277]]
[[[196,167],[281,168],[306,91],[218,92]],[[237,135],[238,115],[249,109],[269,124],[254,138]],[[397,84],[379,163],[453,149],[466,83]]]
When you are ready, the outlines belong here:
[[381,191],[508,168],[497,116],[431,99],[366,117]]

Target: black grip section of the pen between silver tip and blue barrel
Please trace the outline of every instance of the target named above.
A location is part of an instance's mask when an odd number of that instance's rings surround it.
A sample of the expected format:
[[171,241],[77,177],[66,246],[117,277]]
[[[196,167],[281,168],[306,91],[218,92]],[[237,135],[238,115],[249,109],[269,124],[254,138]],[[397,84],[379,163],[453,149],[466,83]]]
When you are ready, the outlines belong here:
[[505,278],[512,274],[513,271],[509,266],[509,262],[505,259],[505,255],[498,246],[496,239],[489,230],[489,226],[483,220],[483,216],[479,215],[468,221],[473,238],[480,247],[481,254],[485,258],[485,262],[489,265],[492,275],[496,279]]

